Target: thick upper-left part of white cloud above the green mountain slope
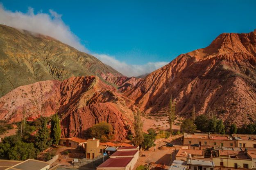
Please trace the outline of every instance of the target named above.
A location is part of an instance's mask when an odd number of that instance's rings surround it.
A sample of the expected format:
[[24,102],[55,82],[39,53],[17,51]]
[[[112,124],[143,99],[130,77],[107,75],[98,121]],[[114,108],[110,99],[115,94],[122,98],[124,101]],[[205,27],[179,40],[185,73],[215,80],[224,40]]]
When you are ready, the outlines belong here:
[[17,29],[25,29],[43,35],[49,35],[65,44],[75,47],[79,51],[88,50],[79,42],[79,38],[70,31],[70,28],[61,20],[61,15],[52,9],[49,13],[34,13],[29,7],[27,13],[8,11],[0,4],[0,24]]

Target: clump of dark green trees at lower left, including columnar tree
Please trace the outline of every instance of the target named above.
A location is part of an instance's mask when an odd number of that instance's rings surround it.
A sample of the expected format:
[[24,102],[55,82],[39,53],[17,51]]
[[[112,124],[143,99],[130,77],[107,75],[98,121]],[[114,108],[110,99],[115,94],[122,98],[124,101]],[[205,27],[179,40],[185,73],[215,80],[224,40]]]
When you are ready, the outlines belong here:
[[[47,117],[42,117],[29,126],[26,121],[21,121],[16,135],[5,137],[0,143],[0,159],[26,160],[36,156],[49,148],[52,144],[58,145],[61,137],[59,117],[52,116],[51,128],[47,128]],[[31,135],[38,128],[34,137]]]

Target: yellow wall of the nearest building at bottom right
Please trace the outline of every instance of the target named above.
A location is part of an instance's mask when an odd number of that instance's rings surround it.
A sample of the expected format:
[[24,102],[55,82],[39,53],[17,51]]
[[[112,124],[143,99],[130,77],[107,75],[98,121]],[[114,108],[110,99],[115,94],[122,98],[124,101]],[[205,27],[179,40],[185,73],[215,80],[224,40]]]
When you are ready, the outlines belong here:
[[243,168],[244,163],[248,164],[248,168],[252,169],[252,160],[250,159],[232,159],[232,158],[219,158],[219,157],[213,157],[213,162],[215,166],[220,166],[220,162],[223,162],[223,166],[234,168],[235,163],[237,163],[238,168]]

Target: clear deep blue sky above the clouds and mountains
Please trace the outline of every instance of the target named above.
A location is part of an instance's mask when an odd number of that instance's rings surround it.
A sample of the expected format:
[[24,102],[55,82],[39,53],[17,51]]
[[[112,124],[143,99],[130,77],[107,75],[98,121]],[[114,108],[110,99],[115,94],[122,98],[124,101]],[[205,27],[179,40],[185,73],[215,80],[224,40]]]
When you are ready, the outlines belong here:
[[256,29],[255,0],[0,2],[12,12],[52,9],[90,53],[127,65],[170,62],[181,53],[208,46],[220,33]]

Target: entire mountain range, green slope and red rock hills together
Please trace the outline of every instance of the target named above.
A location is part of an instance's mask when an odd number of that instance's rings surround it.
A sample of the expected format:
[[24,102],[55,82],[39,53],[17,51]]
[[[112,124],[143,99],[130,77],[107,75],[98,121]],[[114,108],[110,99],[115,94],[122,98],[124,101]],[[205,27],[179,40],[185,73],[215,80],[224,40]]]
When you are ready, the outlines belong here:
[[223,33],[140,79],[51,38],[1,25],[0,34],[0,120],[20,121],[25,106],[27,117],[58,112],[63,136],[85,137],[93,124],[107,121],[124,139],[132,110],[164,115],[171,95],[183,117],[195,104],[197,115],[211,109],[227,124],[256,119],[256,30]]

